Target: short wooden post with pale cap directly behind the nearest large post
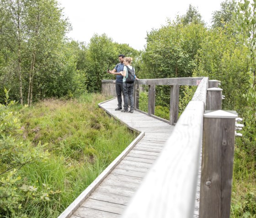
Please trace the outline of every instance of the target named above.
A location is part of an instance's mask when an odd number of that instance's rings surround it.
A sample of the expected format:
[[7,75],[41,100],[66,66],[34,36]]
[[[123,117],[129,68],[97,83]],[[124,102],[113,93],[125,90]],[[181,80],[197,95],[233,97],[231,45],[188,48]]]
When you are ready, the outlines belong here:
[[207,89],[206,110],[221,110],[222,105],[222,89]]

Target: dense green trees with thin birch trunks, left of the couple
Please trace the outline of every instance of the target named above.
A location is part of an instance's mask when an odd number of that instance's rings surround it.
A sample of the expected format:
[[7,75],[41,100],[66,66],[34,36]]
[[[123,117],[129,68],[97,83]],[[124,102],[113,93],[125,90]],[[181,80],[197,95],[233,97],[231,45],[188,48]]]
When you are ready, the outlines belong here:
[[[101,79],[113,78],[106,69],[117,63],[119,53],[139,55],[105,34],[92,36],[88,45],[68,41],[70,28],[57,0],[1,0],[0,87],[11,89],[12,99],[31,105],[100,91]],[[0,93],[4,96],[3,88]]]

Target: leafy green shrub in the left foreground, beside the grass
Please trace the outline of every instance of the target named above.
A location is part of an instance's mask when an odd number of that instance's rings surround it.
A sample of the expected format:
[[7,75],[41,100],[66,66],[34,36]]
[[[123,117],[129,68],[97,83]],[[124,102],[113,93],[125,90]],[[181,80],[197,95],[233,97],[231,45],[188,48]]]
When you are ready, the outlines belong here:
[[9,101],[9,91],[5,89],[5,103],[0,104],[0,216],[14,216],[22,208],[22,203],[37,192],[37,188],[26,184],[20,169],[28,163],[47,158],[39,143],[33,147],[30,142],[17,139],[21,134],[18,114],[11,111],[14,101]]

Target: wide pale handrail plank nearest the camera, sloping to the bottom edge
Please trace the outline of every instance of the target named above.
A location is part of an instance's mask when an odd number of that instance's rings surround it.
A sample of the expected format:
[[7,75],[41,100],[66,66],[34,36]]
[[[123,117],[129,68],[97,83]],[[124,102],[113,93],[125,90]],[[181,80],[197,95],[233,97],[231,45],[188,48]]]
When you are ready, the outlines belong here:
[[192,217],[203,135],[203,112],[202,101],[189,102],[123,218]]

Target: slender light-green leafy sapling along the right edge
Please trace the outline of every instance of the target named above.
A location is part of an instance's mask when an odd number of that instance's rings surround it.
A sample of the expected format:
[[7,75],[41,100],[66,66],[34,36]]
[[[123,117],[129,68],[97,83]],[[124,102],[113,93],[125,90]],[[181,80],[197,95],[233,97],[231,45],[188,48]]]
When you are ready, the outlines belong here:
[[[245,44],[250,61],[250,70],[246,92],[243,94],[247,101],[245,112],[245,137],[250,141],[256,141],[256,1],[250,5],[249,0],[238,3],[237,12],[233,13],[235,25],[238,31],[238,39]],[[256,153],[253,153],[256,157]]]

